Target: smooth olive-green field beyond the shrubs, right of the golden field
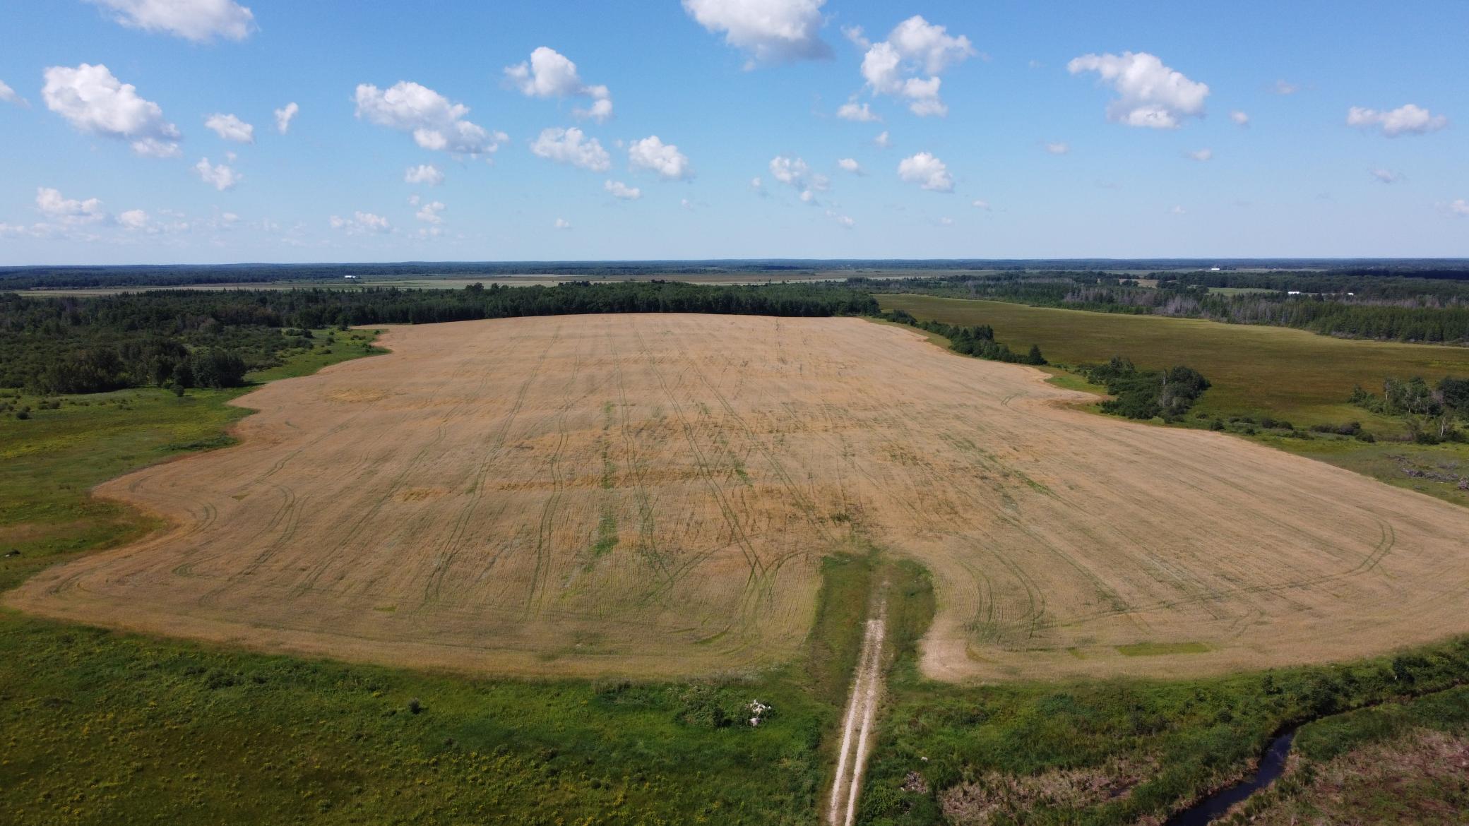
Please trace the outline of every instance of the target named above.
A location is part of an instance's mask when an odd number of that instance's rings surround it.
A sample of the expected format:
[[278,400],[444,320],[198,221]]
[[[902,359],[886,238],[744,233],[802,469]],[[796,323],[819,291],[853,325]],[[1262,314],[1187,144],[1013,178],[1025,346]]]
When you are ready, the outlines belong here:
[[[1127,356],[1140,367],[1187,364],[1213,384],[1197,410],[1288,417],[1296,425],[1371,422],[1347,404],[1351,388],[1381,392],[1387,376],[1469,376],[1469,347],[1331,338],[1300,329],[1202,319],[1128,316],[1027,307],[1005,301],[878,295],[884,310],[920,319],[995,328],[1024,351],[1039,344],[1052,362],[1097,363]],[[1396,422],[1381,426],[1397,432]]]

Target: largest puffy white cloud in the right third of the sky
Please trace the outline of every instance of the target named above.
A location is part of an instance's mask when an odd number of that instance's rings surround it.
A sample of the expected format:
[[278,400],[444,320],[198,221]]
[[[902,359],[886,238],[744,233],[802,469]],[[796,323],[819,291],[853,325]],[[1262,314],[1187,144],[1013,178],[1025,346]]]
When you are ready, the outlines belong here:
[[1177,129],[1184,118],[1203,115],[1209,97],[1208,84],[1190,81],[1146,51],[1083,54],[1066,71],[1096,72],[1116,93],[1106,107],[1108,121],[1128,126]]

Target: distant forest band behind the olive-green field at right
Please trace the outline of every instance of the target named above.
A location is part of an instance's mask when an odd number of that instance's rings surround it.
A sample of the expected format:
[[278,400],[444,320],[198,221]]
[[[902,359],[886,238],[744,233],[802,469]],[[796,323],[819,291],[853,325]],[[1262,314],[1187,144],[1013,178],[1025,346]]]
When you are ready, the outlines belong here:
[[[856,278],[852,288],[987,298],[1036,307],[1209,319],[1322,335],[1416,342],[1469,341],[1469,281],[1288,272],[1183,272],[1156,285],[1105,272],[949,275],[900,282]],[[1460,273],[1466,275],[1466,273]],[[1222,290],[1222,291],[1219,291]]]

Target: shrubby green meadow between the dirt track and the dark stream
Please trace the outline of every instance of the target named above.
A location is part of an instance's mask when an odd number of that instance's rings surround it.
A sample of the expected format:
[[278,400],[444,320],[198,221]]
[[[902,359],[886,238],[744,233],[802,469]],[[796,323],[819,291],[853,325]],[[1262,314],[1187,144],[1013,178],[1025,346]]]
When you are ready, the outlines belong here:
[[[1161,823],[1178,801],[1243,777],[1275,733],[1294,723],[1319,719],[1302,729],[1302,751],[1316,760],[1359,758],[1390,735],[1438,725],[1431,720],[1465,732],[1469,692],[1453,686],[1466,679],[1469,639],[1340,666],[1197,680],[959,688],[899,667],[862,823]],[[1341,714],[1353,708],[1363,710]],[[1457,800],[1462,776],[1456,780],[1418,789],[1413,802]]]

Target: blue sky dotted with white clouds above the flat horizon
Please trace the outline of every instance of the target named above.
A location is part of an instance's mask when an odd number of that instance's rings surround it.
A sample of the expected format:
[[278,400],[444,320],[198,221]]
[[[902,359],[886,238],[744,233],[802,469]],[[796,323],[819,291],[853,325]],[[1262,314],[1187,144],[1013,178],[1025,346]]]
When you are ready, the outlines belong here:
[[1469,256],[1465,31],[1462,1],[15,0],[0,263]]

